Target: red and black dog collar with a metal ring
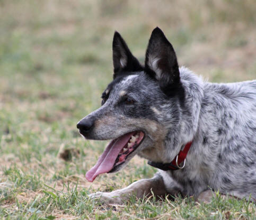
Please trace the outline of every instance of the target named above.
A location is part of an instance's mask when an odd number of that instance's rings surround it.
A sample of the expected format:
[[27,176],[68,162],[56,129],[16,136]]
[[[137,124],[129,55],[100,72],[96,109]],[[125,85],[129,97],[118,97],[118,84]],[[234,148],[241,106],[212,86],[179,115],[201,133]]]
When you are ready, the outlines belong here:
[[[171,161],[170,163],[157,163],[157,162],[153,162],[153,161],[147,161],[147,164],[149,164],[152,167],[155,167],[155,168],[158,168],[161,170],[165,170],[165,171],[166,170],[182,169],[182,168],[184,168],[184,166],[186,164],[186,157],[187,157],[187,154],[188,154],[191,144],[192,144],[192,141],[188,142],[185,145],[183,151],[180,151],[178,153],[178,155],[176,155],[174,160]],[[183,164],[181,164],[182,162],[183,162]]]

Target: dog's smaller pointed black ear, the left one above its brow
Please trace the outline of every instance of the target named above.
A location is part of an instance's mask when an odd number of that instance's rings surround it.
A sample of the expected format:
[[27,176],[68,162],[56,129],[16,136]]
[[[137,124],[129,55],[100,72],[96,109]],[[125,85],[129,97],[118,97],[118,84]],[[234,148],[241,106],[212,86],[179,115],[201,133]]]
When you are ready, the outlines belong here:
[[119,72],[143,71],[143,67],[130,52],[126,42],[117,31],[114,32],[112,49],[114,78],[118,76]]

